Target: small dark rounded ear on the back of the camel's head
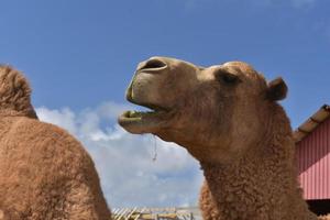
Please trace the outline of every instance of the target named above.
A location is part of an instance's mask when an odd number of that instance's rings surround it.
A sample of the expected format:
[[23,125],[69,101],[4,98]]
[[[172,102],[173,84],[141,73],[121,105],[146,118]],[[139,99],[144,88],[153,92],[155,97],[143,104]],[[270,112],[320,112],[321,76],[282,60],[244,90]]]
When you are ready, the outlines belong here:
[[266,94],[267,99],[272,101],[278,101],[285,99],[287,94],[287,86],[280,77],[270,81],[267,87],[268,87]]

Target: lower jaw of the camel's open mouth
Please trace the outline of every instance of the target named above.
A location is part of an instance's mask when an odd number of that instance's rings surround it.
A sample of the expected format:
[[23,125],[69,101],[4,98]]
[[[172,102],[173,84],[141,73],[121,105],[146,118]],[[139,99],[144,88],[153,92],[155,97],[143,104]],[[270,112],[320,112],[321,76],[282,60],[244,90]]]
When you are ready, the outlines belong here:
[[130,133],[152,133],[161,123],[162,111],[125,111],[118,118],[118,123]]

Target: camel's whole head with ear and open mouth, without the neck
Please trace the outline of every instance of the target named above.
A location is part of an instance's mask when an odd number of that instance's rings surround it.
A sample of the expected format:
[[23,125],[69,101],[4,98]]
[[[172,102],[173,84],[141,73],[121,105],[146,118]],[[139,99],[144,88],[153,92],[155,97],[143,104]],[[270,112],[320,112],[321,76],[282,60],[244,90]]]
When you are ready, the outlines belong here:
[[244,154],[266,131],[267,108],[287,87],[242,62],[200,67],[168,57],[139,64],[127,99],[150,111],[127,111],[119,123],[135,134],[152,133],[186,147],[199,161]]

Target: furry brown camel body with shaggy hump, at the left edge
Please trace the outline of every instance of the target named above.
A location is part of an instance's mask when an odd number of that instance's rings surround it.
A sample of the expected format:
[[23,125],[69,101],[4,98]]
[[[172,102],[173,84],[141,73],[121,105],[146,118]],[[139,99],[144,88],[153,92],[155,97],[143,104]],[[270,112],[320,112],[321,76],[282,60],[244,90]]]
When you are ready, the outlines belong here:
[[90,156],[37,120],[30,94],[18,70],[0,66],[0,219],[110,219]]

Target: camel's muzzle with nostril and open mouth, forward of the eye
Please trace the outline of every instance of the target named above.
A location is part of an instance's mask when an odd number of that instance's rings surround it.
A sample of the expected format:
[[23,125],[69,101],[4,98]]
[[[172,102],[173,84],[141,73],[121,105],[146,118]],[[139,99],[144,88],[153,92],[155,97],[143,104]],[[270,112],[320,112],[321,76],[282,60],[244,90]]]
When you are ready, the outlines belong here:
[[179,99],[186,99],[189,89],[198,84],[198,72],[193,64],[167,57],[152,57],[140,63],[127,90],[127,99],[152,111],[127,111],[119,123],[138,134],[173,128],[173,119],[182,108]]

